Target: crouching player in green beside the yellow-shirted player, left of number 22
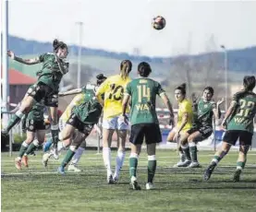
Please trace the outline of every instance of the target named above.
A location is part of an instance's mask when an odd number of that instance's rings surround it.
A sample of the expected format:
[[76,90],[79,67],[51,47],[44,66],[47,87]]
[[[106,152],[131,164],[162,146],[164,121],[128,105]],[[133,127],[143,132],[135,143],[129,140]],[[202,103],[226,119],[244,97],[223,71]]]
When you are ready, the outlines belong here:
[[189,168],[198,168],[200,164],[197,159],[197,142],[200,142],[213,134],[213,117],[219,119],[221,112],[219,106],[224,102],[224,99],[218,100],[215,103],[213,99],[214,90],[212,87],[206,87],[203,89],[201,100],[197,105],[197,123],[193,124],[189,129],[189,152],[191,157],[191,163]]

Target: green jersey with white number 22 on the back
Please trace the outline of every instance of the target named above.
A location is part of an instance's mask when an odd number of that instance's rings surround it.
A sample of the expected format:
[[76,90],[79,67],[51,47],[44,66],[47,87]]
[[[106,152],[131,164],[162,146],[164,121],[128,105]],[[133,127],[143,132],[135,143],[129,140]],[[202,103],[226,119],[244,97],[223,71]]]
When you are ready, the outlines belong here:
[[253,119],[256,114],[256,94],[238,92],[233,97],[235,110],[227,122],[227,130],[242,130],[253,134]]

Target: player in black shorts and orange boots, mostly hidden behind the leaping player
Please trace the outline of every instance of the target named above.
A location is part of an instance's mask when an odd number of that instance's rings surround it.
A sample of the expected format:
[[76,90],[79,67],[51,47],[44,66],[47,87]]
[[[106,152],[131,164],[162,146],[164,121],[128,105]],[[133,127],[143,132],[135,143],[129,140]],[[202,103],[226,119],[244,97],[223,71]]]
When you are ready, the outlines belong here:
[[[30,87],[31,89],[33,86]],[[28,94],[23,100],[28,98]],[[23,101],[22,100],[22,101]],[[22,103],[22,102],[21,102]],[[26,117],[26,130],[27,138],[19,148],[18,157],[15,159],[15,166],[18,170],[21,169],[21,159],[25,167],[29,167],[28,155],[43,144],[45,136],[45,124],[44,124],[44,105],[43,103],[36,102]],[[35,136],[37,139],[34,139]]]

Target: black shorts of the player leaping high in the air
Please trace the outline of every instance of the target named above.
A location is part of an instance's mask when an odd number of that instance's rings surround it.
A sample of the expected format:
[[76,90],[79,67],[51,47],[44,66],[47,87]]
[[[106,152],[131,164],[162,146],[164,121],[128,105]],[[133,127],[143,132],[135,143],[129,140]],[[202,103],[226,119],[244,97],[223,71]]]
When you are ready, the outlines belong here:
[[43,100],[43,104],[45,106],[58,107],[58,92],[43,82],[38,82],[31,86],[27,93],[37,102],[41,102]]

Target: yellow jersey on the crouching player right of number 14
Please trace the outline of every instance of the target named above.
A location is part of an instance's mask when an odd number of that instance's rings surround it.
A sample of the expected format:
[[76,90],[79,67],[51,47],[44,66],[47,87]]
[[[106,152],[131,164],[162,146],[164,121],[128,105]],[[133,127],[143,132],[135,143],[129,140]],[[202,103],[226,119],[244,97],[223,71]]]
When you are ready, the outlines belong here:
[[184,99],[178,103],[178,111],[177,111],[177,127],[179,127],[182,123],[182,118],[185,113],[188,113],[188,122],[183,127],[181,132],[186,132],[192,127],[193,121],[193,111],[192,111],[192,102],[190,100]]

